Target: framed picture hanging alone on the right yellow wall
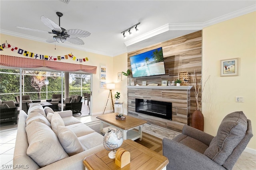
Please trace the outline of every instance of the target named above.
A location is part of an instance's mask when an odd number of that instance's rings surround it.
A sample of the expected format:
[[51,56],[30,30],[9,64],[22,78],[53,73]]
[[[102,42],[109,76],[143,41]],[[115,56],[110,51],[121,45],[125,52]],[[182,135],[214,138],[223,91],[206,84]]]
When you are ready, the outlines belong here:
[[220,76],[238,76],[238,58],[221,60]]

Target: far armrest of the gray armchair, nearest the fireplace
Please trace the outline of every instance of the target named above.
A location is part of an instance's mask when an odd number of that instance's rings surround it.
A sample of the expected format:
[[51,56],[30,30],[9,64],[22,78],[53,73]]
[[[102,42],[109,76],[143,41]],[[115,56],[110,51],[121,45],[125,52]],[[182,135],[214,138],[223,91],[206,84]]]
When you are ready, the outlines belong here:
[[182,129],[182,134],[192,137],[198,141],[201,141],[205,145],[209,146],[214,136],[209,135],[203,131],[200,131],[194,127],[184,125]]

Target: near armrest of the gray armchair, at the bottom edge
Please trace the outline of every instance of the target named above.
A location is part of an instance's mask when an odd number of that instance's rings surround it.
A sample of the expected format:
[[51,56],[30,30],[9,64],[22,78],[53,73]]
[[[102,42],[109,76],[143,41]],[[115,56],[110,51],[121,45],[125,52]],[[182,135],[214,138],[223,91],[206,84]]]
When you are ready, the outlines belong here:
[[171,139],[163,139],[163,155],[169,160],[166,169],[226,170],[204,154]]

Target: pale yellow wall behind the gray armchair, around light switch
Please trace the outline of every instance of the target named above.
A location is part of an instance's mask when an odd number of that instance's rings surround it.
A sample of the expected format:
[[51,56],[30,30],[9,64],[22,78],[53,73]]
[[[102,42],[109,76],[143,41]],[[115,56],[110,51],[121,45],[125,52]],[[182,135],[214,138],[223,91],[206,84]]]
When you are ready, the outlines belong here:
[[[203,29],[203,79],[210,75],[203,92],[204,131],[216,135],[222,119],[244,111],[252,121],[254,137],[247,145],[256,149],[256,12]],[[239,58],[239,76],[220,77],[220,60]],[[235,97],[244,97],[244,103]],[[254,151],[255,152],[255,151]]]

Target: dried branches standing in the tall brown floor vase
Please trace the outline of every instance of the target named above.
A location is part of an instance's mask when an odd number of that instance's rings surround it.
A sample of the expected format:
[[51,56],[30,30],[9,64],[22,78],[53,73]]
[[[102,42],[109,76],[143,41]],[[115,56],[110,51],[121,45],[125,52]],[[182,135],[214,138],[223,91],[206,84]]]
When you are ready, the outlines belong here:
[[[194,69],[194,75],[193,75],[193,86],[195,88],[195,98],[196,98],[196,110],[200,110],[200,105],[202,103],[202,94],[204,91],[204,86],[206,84],[206,82],[209,80],[210,75],[208,76],[207,80],[204,82],[204,85],[202,86],[202,76],[200,79],[200,82],[197,82],[197,74],[196,74],[196,69]],[[202,88],[201,88],[202,86]],[[202,89],[202,93],[201,93],[201,97],[199,97],[199,90]]]

